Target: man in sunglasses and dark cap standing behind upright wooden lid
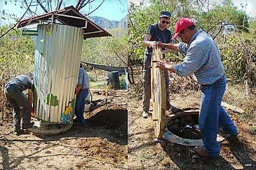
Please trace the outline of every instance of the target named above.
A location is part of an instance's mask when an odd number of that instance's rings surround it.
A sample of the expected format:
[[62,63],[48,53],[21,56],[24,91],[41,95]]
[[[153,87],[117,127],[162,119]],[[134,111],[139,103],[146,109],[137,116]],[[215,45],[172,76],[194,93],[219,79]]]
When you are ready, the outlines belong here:
[[[159,15],[159,22],[156,24],[149,25],[146,30],[146,36],[143,39],[143,45],[146,46],[145,55],[144,55],[144,69],[143,69],[143,86],[144,86],[144,101],[143,101],[143,114],[144,118],[148,117],[149,111],[149,98],[150,98],[150,69],[151,65],[151,53],[152,47],[157,42],[170,43],[171,42],[171,31],[167,28],[167,25],[170,24],[171,13],[169,11],[161,11]],[[167,48],[162,48],[163,57],[165,53],[170,50]],[[169,74],[165,71],[165,84],[166,84],[166,104],[167,109],[170,108],[169,102]]]

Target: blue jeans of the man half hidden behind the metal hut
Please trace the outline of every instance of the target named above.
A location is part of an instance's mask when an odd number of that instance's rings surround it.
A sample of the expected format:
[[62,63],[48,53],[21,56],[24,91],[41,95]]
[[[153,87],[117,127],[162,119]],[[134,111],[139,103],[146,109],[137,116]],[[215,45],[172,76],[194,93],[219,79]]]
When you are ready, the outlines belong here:
[[85,111],[85,98],[89,94],[89,89],[85,88],[79,91],[75,99],[75,116],[78,121],[85,121],[83,112]]

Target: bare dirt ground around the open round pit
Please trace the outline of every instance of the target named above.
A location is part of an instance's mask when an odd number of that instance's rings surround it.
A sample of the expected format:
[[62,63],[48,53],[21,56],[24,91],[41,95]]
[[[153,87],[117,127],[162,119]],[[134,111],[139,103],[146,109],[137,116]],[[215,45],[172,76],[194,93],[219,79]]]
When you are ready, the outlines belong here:
[[[141,75],[138,75],[141,76]],[[138,89],[137,89],[138,90]],[[220,157],[196,157],[193,147],[170,142],[155,142],[152,117],[142,118],[142,98],[134,99],[128,93],[128,169],[256,169],[256,136],[249,126],[228,114],[239,130],[239,142],[224,140],[220,144]],[[182,109],[199,107],[200,90],[187,90],[183,94],[170,94],[171,105]],[[171,111],[167,111],[168,116]]]

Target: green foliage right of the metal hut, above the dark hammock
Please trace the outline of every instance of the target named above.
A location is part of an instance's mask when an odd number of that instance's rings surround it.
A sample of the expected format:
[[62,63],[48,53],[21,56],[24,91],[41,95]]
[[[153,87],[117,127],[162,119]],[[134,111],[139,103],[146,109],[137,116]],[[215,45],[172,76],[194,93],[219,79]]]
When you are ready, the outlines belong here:
[[89,38],[83,43],[82,60],[102,65],[127,65],[127,30],[114,28],[111,37]]

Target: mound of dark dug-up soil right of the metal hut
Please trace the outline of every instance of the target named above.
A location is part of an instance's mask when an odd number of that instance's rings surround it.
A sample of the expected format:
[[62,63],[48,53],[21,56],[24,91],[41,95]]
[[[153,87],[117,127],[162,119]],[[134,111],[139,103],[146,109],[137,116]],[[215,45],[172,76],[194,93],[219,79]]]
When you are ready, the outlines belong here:
[[89,113],[87,121],[91,125],[111,128],[127,123],[127,116],[127,109],[119,105],[107,105],[107,107],[102,106]]

